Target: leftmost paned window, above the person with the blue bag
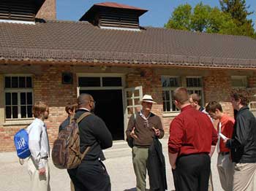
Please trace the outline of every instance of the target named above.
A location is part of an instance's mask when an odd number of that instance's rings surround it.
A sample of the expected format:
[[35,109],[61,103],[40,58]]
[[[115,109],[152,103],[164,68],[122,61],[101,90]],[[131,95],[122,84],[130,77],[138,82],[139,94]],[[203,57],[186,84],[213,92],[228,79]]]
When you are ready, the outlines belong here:
[[33,97],[31,76],[5,76],[4,103],[6,120],[32,118]]

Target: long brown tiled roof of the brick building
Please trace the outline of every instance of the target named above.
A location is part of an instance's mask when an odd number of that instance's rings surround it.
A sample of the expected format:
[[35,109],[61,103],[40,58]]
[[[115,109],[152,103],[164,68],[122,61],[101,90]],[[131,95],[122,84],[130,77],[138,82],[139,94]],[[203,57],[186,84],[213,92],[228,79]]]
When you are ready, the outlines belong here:
[[245,36],[165,28],[110,30],[87,22],[0,23],[0,61],[256,69],[255,42]]

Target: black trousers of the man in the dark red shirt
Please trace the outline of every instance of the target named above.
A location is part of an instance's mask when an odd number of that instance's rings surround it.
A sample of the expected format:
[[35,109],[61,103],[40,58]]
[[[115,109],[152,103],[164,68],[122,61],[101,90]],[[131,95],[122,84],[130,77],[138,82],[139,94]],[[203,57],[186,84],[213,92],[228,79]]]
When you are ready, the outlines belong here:
[[176,191],[208,191],[211,158],[208,154],[178,157],[173,180]]

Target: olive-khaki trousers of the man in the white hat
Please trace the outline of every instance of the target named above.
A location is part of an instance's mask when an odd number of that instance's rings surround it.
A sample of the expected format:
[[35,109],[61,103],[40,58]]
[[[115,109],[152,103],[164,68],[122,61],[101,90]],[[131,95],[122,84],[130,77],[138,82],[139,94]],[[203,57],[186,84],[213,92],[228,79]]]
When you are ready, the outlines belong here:
[[132,148],[132,163],[136,175],[137,191],[146,190],[146,163],[148,160],[148,148]]

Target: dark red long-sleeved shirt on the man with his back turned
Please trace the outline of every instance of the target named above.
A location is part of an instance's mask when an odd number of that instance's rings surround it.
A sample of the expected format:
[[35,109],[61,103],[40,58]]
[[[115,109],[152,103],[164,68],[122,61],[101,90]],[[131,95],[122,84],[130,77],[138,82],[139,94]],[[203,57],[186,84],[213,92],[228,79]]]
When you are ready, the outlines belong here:
[[218,141],[217,130],[207,114],[185,106],[170,123],[168,151],[178,156],[209,153]]

